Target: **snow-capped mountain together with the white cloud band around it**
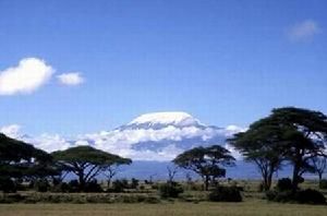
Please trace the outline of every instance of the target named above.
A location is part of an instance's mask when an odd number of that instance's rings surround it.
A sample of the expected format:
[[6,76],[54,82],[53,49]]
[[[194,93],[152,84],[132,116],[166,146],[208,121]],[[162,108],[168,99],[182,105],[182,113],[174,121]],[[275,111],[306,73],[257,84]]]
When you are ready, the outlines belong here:
[[43,134],[37,137],[20,135],[19,129],[19,125],[14,125],[2,131],[48,152],[75,145],[92,145],[134,160],[157,161],[171,160],[178,154],[199,145],[219,144],[229,148],[226,139],[243,131],[235,125],[207,125],[180,111],[142,115],[114,130],[81,134],[70,140],[58,134]]

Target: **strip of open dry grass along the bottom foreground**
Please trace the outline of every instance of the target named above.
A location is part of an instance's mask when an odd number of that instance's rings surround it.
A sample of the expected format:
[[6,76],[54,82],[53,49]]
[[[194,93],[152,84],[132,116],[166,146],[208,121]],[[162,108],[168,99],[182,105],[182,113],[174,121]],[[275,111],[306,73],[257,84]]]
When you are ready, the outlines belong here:
[[1,216],[323,216],[326,206],[276,204],[266,201],[246,201],[243,203],[160,203],[160,204],[1,204]]

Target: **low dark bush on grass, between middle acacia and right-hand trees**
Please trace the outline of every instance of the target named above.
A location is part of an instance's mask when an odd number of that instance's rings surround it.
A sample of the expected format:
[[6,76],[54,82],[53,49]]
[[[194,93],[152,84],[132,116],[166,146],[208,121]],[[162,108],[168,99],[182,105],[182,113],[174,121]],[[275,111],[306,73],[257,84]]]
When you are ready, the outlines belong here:
[[213,202],[242,202],[242,195],[237,187],[218,187],[209,193]]

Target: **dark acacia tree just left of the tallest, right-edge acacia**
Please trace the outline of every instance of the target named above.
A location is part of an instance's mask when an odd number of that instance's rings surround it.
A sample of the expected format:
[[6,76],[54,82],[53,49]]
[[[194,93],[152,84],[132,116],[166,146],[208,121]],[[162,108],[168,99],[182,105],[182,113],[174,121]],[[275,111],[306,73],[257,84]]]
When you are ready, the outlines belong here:
[[281,142],[286,142],[283,130],[262,119],[252,123],[246,132],[234,134],[228,142],[245,160],[256,165],[263,178],[263,189],[269,190],[272,175],[281,168],[286,154],[280,146]]

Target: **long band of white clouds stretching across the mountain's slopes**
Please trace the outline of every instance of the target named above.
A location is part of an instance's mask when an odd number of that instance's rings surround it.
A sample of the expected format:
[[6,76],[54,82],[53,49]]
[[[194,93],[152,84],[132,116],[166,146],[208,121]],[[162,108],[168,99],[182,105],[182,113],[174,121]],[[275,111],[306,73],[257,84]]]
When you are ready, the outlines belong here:
[[[38,148],[47,152],[58,149],[66,149],[76,145],[92,145],[98,149],[102,149],[112,154],[118,154],[122,157],[129,157],[134,160],[158,160],[167,161],[173,159],[177,155],[184,152],[184,147],[179,146],[178,142],[185,139],[201,139],[204,142],[215,137],[230,137],[233,133],[244,131],[246,129],[235,125],[227,127],[226,129],[216,128],[196,128],[184,127],[175,128],[168,125],[159,130],[154,129],[125,129],[113,131],[100,131],[92,134],[81,134],[72,140],[66,140],[58,134],[41,134],[31,137],[22,135],[20,125],[12,124],[1,128],[0,132],[4,132],[11,137],[15,137],[26,143],[31,143]],[[160,142],[165,141],[167,145],[158,148],[134,148],[134,144],[145,143],[148,141]],[[240,158],[240,154],[226,143],[213,143],[225,145],[232,155]],[[195,147],[201,145],[193,143]]]

